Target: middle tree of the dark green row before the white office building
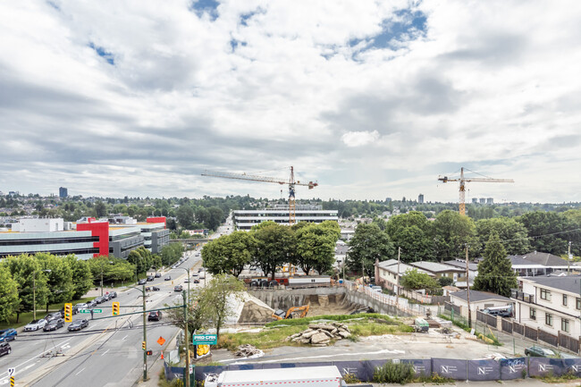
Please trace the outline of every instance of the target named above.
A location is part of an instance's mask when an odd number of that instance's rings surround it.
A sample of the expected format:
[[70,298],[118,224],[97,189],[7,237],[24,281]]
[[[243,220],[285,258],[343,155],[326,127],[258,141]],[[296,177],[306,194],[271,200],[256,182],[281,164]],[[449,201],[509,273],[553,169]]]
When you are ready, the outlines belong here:
[[255,265],[260,267],[268,276],[276,273],[276,266],[281,266],[290,261],[292,252],[292,231],[287,226],[274,222],[263,222],[252,229],[257,240],[257,249],[254,259]]

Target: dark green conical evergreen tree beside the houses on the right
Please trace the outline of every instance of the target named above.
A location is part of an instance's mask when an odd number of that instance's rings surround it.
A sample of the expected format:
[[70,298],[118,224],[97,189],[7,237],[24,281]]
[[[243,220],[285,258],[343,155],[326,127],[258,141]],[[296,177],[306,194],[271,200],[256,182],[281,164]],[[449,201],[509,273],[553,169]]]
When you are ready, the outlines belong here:
[[510,297],[510,290],[516,287],[517,275],[512,271],[512,265],[498,234],[493,231],[484,248],[484,259],[478,264],[474,289]]

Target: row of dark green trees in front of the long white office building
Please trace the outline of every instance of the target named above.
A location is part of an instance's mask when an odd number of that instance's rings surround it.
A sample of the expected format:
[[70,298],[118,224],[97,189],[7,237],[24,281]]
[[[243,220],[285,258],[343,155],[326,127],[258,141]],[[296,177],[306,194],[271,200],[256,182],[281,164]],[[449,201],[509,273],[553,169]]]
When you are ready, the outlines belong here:
[[212,240],[202,250],[210,273],[240,275],[245,265],[255,265],[274,278],[277,266],[298,265],[305,273],[324,273],[333,267],[335,243],[341,236],[336,222],[257,224],[251,231],[234,231]]

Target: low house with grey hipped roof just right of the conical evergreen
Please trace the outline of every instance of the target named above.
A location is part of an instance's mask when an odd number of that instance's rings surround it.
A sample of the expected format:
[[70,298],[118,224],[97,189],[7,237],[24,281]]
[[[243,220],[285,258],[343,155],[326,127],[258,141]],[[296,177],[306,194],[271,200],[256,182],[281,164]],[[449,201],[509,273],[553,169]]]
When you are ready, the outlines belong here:
[[577,265],[568,265],[568,261],[561,257],[553,256],[549,253],[532,252],[524,256],[509,256],[512,270],[518,276],[532,277],[535,275],[546,275],[557,270],[567,272],[570,269],[579,270]]

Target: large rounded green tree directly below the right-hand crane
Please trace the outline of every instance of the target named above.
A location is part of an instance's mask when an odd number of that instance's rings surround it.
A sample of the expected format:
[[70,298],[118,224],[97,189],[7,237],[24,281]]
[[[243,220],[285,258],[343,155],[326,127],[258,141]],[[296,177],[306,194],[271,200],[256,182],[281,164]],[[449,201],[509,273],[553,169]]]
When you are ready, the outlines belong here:
[[469,245],[472,257],[479,251],[474,221],[455,211],[442,211],[434,221],[436,258],[440,261],[464,257],[465,245]]

